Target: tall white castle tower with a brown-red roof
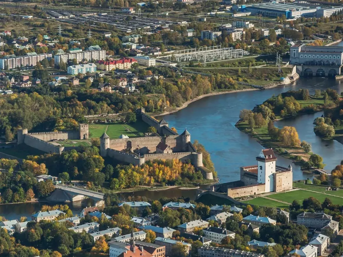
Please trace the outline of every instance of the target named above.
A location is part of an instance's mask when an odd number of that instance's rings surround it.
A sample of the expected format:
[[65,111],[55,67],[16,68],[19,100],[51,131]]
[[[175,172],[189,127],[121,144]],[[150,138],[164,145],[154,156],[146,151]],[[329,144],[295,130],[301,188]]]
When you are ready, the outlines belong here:
[[276,172],[276,156],[272,148],[263,149],[259,156],[256,157],[257,160],[257,183],[265,183],[265,192],[274,191],[274,176],[273,173]]

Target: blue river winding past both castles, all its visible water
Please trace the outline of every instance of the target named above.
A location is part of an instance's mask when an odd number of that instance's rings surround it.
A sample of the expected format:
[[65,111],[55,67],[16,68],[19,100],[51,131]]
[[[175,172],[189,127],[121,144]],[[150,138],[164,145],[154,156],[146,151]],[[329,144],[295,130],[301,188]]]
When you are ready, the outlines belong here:
[[[272,95],[278,95],[288,90],[308,89],[314,94],[315,89],[324,90],[332,88],[341,93],[343,82],[327,78],[300,78],[293,85],[278,86],[266,90],[245,91],[202,98],[191,103],[187,108],[176,113],[165,115],[169,127],[175,127],[179,133],[185,128],[191,134],[191,139],[199,140],[211,154],[215,170],[221,182],[239,180],[241,166],[256,164],[255,157],[263,148],[255,139],[236,129],[235,124],[239,120],[239,111],[252,109],[263,103]],[[275,122],[276,126],[296,127],[300,140],[305,140],[312,145],[312,151],[323,157],[326,167],[331,171],[342,159],[342,145],[335,140],[322,140],[313,132],[313,120],[320,117],[322,112],[302,115],[301,117],[286,119]],[[293,166],[293,180],[311,178],[311,174],[302,173],[300,167],[291,160],[278,157],[277,165]],[[122,193],[121,196],[140,195],[150,199],[165,197],[187,196],[191,199],[196,197],[196,190],[169,189],[164,191],[136,191],[134,193]],[[25,203],[0,205],[0,216],[7,219],[19,219],[21,216],[30,217],[34,211],[39,211],[44,203]],[[89,206],[90,201],[70,203],[70,209],[78,214],[82,208]]]

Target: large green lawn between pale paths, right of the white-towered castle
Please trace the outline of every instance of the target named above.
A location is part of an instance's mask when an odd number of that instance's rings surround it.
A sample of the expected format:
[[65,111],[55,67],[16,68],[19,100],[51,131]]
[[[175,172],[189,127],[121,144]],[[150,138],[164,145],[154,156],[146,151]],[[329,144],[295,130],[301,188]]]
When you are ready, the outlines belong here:
[[342,205],[343,203],[343,198],[341,197],[325,195],[322,193],[315,193],[315,192],[305,191],[301,189],[296,190],[296,191],[286,192],[286,193],[273,194],[273,195],[269,195],[268,197],[276,199],[276,200],[280,200],[280,201],[285,201],[287,203],[292,203],[293,200],[298,200],[302,202],[304,199],[309,198],[310,196],[317,198],[321,203],[325,200],[325,198],[330,198],[333,204]]

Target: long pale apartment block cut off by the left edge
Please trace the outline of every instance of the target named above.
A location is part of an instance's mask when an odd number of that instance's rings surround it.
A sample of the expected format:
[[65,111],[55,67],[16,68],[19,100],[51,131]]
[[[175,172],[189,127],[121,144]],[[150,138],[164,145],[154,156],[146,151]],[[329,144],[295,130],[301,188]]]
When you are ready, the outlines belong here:
[[32,67],[36,66],[37,62],[42,61],[45,58],[50,60],[51,57],[51,53],[37,54],[32,52],[27,53],[26,56],[15,56],[14,54],[11,54],[0,59],[0,69],[11,70],[17,67]]

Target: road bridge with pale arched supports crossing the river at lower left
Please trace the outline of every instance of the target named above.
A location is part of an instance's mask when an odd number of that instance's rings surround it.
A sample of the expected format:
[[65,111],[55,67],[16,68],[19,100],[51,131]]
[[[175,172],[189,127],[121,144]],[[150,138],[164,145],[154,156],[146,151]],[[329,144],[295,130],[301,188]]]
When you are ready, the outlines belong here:
[[95,201],[95,206],[104,205],[104,195],[103,193],[87,190],[82,187],[76,186],[66,186],[66,185],[56,185],[55,191],[47,198],[48,201],[55,202],[75,202],[81,201],[85,197],[91,198]]

